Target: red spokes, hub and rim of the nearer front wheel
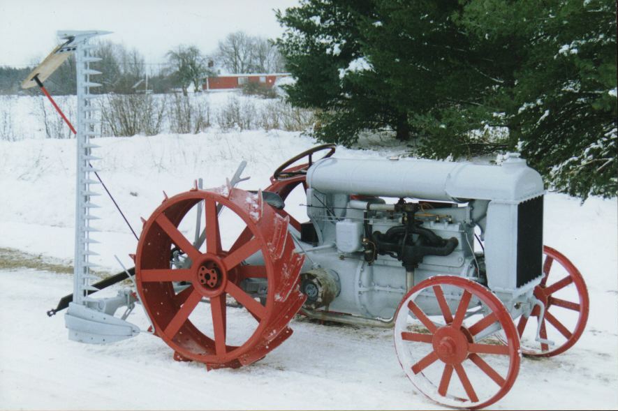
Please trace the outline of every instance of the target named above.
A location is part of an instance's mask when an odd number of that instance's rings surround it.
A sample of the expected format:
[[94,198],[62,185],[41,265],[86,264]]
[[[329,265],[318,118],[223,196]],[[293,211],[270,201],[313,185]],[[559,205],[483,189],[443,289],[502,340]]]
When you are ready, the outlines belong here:
[[[464,290],[462,292],[462,298],[457,303],[457,311],[455,311],[455,313],[448,313],[446,299],[443,297],[438,298],[438,293],[444,296],[443,286],[445,285],[455,286]],[[436,290],[436,287],[439,291]],[[415,300],[419,297],[420,293],[429,288],[436,293],[436,299],[438,300],[437,302],[443,316],[442,327],[436,327],[434,322],[425,315],[424,311],[415,304]],[[466,324],[457,328],[458,322],[463,320],[464,315],[463,311],[460,312],[460,308],[462,304],[465,304],[465,306],[469,304],[469,301],[462,303],[462,300],[466,299],[466,294],[470,294],[470,298],[476,297],[479,299],[480,297],[483,304],[490,309],[490,314],[484,315],[482,320],[478,320],[472,325]],[[411,302],[413,306],[410,305]],[[407,331],[409,314],[420,320],[422,327],[425,327],[425,331],[428,331],[429,334],[425,334],[425,332]],[[469,281],[466,278],[453,276],[435,276],[429,278],[413,287],[413,289],[406,294],[397,309],[396,315],[395,350],[397,351],[399,364],[404,368],[406,375],[416,389],[432,401],[455,408],[483,408],[498,401],[508,393],[511,387],[513,387],[520,366],[520,344],[517,329],[515,329],[515,324],[501,301],[482,285]],[[424,318],[421,319],[423,316]],[[480,343],[480,341],[485,341],[485,338],[481,338],[479,341],[476,341],[474,338],[494,322],[499,322],[502,329],[505,330],[505,334],[508,337],[507,346],[490,345],[488,347],[489,344]],[[434,324],[434,329],[430,329],[430,327],[432,327],[431,324]],[[449,324],[454,328],[453,330],[448,331]],[[468,338],[468,345],[465,349],[466,352],[463,352],[463,348],[459,348],[459,350],[453,349],[451,350],[452,352],[449,353],[450,348],[448,345],[453,344],[448,341],[448,338],[439,339],[439,337],[445,335],[446,337],[452,337],[453,343],[457,345],[457,338],[459,338],[457,337],[457,332]],[[438,338],[439,341],[436,341],[436,338]],[[470,343],[470,341],[472,342]],[[408,345],[411,343],[416,343],[417,345],[415,346],[418,346],[418,344],[431,345],[432,348],[429,354],[417,361],[417,359],[411,359],[409,356],[410,347]],[[442,343],[444,344],[441,347]],[[449,354],[453,355],[449,357]],[[483,357],[480,354],[483,354]],[[504,354],[508,356],[508,371],[506,373],[503,372],[502,375],[499,375],[492,366],[485,362],[484,359],[493,354]],[[431,366],[435,367],[435,364],[439,365],[439,368],[437,368],[438,370],[440,368],[443,369],[441,373],[438,373],[441,374],[439,381],[436,378],[431,381],[427,378],[427,375],[425,375],[425,370],[429,369]],[[469,371],[466,373],[463,366],[464,364],[476,366],[478,370],[485,373],[485,378],[494,380],[496,386],[498,386],[495,393],[490,394],[487,398],[478,398],[476,390],[474,389],[474,384],[469,379]],[[470,368],[468,368],[468,370],[470,370]],[[449,393],[454,379],[459,379],[468,397],[456,397]],[[464,380],[467,380],[467,383],[464,382]]]

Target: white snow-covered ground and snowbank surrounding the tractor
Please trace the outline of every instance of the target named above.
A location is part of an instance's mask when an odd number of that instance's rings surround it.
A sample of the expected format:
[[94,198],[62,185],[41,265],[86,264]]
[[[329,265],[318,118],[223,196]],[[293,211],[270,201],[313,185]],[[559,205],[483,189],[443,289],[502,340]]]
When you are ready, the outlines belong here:
[[[23,117],[24,119],[27,117]],[[25,127],[25,126],[24,126]],[[36,137],[36,136],[33,136]],[[103,138],[98,166],[136,230],[168,195],[193,180],[220,186],[240,160],[251,180],[267,185],[280,163],[316,144],[299,133],[216,130],[198,135]],[[338,149],[340,157],[401,154]],[[68,265],[73,256],[75,141],[0,142],[0,248]],[[102,232],[94,258],[117,272],[114,255],[131,265],[136,241],[107,197],[96,226]],[[287,203],[302,215],[302,196]],[[575,347],[550,359],[524,358],[509,394],[492,409],[618,408],[617,201],[545,198],[545,244],[582,271],[590,293],[587,329]],[[0,250],[1,251],[1,250]],[[441,409],[402,371],[392,330],[323,326],[293,320],[294,334],[256,364],[208,372],[202,364],[172,360],[172,351],[149,334],[111,345],[68,341],[64,317],[45,311],[72,290],[71,275],[14,267],[0,253],[1,409]],[[15,257],[16,258],[16,257]],[[27,265],[27,264],[24,264]],[[5,267],[5,268],[1,268]],[[242,315],[228,308],[228,315]],[[128,318],[142,329],[140,307]]]

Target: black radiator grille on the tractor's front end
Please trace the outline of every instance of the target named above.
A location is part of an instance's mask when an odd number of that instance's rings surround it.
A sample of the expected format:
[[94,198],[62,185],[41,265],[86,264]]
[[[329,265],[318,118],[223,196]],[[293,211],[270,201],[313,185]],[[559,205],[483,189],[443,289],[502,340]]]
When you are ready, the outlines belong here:
[[517,287],[543,274],[543,196],[517,206]]

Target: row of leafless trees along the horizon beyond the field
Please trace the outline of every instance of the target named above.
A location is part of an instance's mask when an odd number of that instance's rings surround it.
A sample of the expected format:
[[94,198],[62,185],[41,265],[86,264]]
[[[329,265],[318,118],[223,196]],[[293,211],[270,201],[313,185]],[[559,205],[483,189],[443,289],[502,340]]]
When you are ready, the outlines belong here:
[[[167,93],[179,89],[186,95],[202,89],[203,80],[219,71],[226,73],[274,73],[285,70],[285,61],[271,40],[249,36],[243,31],[229,33],[216,50],[205,54],[196,45],[178,45],[165,53],[165,63],[151,65],[139,50],[109,40],[96,43],[94,55],[102,60],[92,63],[101,71],[94,92],[134,94],[145,91]],[[0,94],[38,94],[22,91],[22,80],[34,66],[13,68],[0,66]],[[45,82],[52,94],[75,94],[75,58],[62,64]]]

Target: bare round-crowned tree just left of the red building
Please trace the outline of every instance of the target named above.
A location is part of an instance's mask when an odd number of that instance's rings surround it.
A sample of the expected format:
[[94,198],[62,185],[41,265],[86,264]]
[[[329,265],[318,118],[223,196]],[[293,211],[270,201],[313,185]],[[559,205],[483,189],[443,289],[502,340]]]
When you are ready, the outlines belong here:
[[175,50],[170,50],[166,56],[174,70],[172,74],[182,88],[182,94],[187,95],[187,88],[191,83],[193,83],[195,91],[200,91],[208,68],[198,47],[179,45]]

